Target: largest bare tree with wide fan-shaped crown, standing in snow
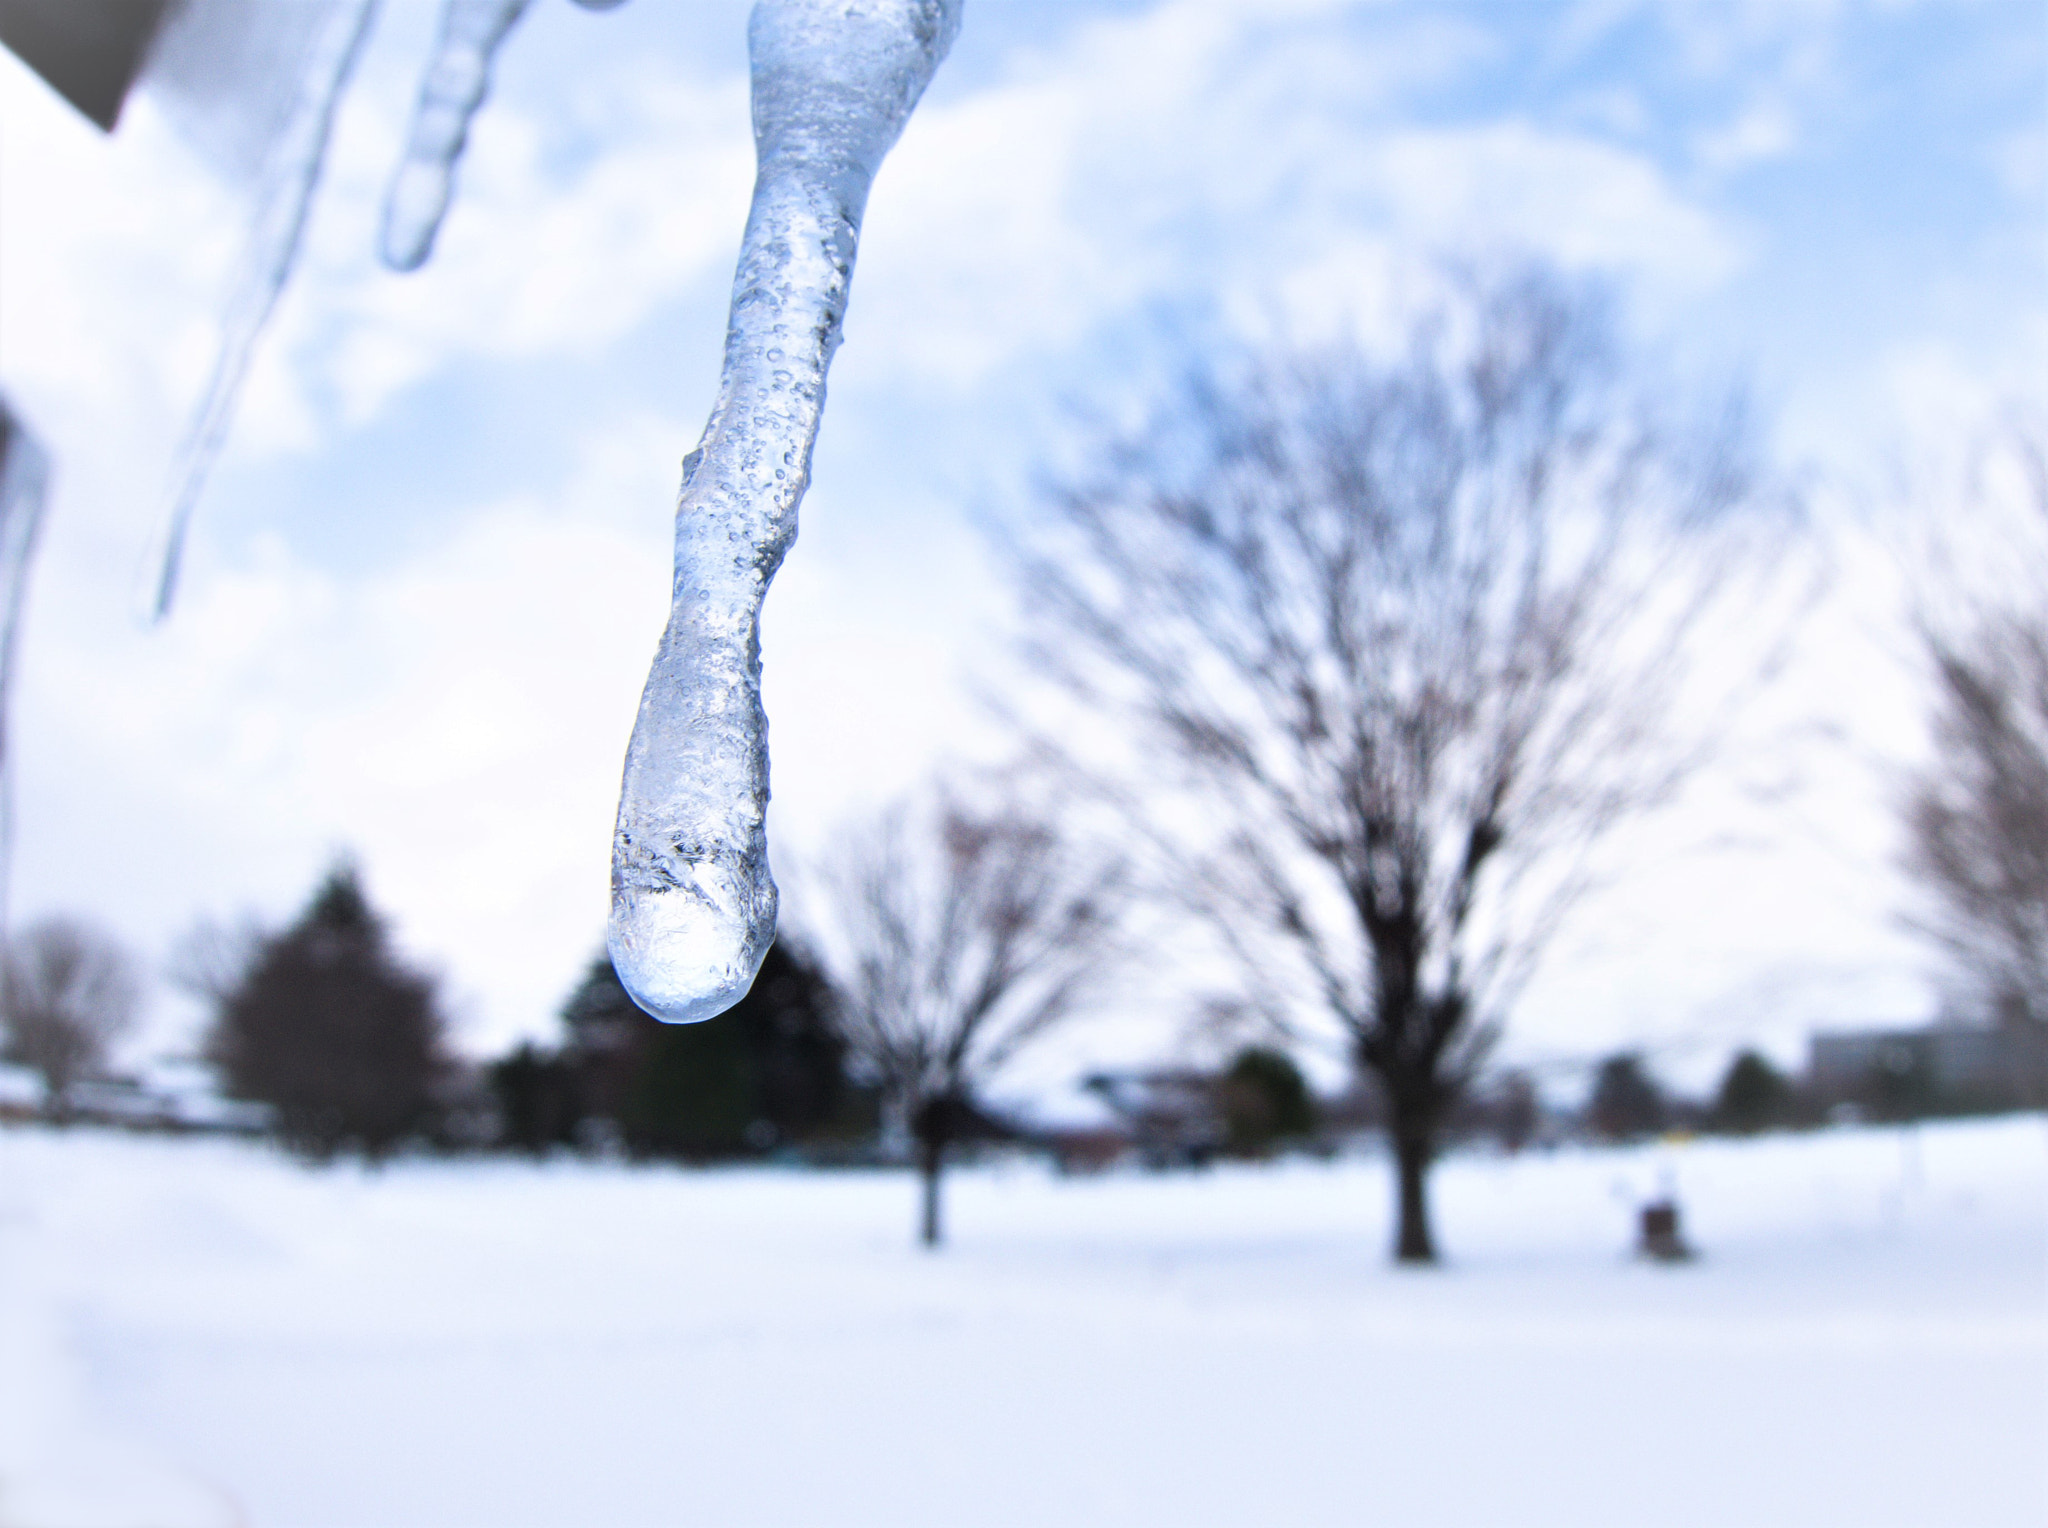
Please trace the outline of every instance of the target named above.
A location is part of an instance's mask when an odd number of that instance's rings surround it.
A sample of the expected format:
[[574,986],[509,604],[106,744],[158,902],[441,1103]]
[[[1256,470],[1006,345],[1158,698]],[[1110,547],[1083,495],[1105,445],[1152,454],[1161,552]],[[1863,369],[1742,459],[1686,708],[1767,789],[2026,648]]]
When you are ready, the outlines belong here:
[[[1706,756],[1667,711],[1753,498],[1739,416],[1661,426],[1604,309],[1473,281],[1405,356],[1198,371],[1047,490],[1028,657],[1272,1022],[1307,1002],[1376,1079],[1395,1256],[1589,852]],[[1069,731],[1079,731],[1069,727]]]

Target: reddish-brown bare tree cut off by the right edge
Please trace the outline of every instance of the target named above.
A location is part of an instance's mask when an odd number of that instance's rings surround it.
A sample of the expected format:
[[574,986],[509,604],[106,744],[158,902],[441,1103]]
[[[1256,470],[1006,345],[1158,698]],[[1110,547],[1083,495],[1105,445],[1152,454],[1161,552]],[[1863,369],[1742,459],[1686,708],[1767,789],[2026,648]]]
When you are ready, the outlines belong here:
[[[2048,430],[2015,428],[2021,516],[2048,533]],[[1987,506],[1976,506],[1987,512]],[[2023,549],[2015,537],[2007,555]],[[2032,571],[2044,571],[2032,559]],[[1933,688],[1931,756],[1901,793],[1903,862],[1919,891],[1909,922],[1944,954],[1964,1012],[2011,1026],[2048,1057],[2048,600],[1964,588],[1925,602],[1919,635]],[[1946,608],[1942,608],[1946,604]]]

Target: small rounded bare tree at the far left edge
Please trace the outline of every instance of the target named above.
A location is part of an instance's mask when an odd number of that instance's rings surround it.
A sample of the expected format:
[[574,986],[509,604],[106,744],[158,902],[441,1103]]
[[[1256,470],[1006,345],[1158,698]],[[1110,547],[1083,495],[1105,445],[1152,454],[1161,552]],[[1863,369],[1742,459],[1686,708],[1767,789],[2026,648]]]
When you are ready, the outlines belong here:
[[135,1022],[141,987],[109,934],[47,918],[8,940],[0,1000],[8,1059],[43,1075],[43,1106],[61,1120],[72,1088],[106,1065],[106,1047]]

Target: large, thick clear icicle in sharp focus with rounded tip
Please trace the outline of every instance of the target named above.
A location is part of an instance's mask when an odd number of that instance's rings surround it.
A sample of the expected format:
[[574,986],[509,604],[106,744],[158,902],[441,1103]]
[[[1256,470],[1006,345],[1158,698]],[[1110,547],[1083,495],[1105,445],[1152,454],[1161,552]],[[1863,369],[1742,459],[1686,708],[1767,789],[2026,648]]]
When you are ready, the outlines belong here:
[[958,25],[961,0],[760,0],[748,29],[754,207],[612,836],[612,965],[674,1024],[739,1002],[774,938],[762,596],[797,535],[868,186]]

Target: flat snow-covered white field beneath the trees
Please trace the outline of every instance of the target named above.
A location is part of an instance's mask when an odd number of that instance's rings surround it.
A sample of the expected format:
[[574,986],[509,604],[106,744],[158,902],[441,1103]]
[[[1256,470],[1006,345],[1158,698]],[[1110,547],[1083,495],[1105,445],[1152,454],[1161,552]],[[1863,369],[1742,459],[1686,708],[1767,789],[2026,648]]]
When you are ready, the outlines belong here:
[[0,1131],[0,1524],[2048,1522],[2040,1116],[911,1200]]

